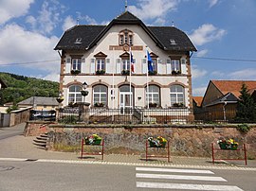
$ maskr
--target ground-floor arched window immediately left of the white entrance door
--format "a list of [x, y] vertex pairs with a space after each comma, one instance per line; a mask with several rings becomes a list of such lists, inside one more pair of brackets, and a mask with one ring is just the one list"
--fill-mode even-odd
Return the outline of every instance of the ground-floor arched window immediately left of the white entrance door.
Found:
[[93, 105], [102, 107], [107, 105], [107, 87], [96, 85], [93, 87]]

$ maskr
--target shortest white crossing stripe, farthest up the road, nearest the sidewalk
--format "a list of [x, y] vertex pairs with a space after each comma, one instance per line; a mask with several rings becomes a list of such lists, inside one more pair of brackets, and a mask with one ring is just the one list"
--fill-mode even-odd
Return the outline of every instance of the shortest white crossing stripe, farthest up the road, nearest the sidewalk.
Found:
[[214, 174], [210, 170], [194, 170], [194, 169], [176, 169], [176, 168], [155, 168], [155, 167], [136, 167], [137, 171], [151, 172], [180, 172], [180, 173], [195, 173], [195, 174]]

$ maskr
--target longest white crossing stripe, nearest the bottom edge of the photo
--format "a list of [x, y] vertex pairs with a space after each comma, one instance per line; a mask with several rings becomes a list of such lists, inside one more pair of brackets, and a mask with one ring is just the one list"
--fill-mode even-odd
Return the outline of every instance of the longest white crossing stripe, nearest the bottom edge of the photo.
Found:
[[163, 182], [136, 182], [139, 188], [166, 188], [183, 190], [211, 190], [211, 191], [243, 191], [233, 185], [210, 185], [210, 184], [188, 184], [188, 183], [163, 183]]

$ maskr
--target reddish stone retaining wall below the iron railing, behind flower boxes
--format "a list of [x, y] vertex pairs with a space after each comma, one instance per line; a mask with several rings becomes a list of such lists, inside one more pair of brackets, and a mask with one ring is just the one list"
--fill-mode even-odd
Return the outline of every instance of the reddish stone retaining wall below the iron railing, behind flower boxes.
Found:
[[241, 133], [236, 129], [237, 125], [72, 126], [45, 124], [42, 130], [42, 125], [29, 123], [26, 135], [48, 131], [47, 149], [50, 150], [64, 151], [67, 150], [65, 148], [68, 150], [74, 148], [73, 150], [79, 151], [82, 137], [98, 133], [104, 138], [107, 153], [144, 153], [146, 139], [149, 136], [161, 135], [170, 140], [172, 155], [210, 157], [210, 143], [216, 144], [219, 138], [224, 137], [234, 138], [240, 146], [246, 143], [248, 158], [253, 159], [256, 156], [256, 128], [253, 126], [247, 133]]

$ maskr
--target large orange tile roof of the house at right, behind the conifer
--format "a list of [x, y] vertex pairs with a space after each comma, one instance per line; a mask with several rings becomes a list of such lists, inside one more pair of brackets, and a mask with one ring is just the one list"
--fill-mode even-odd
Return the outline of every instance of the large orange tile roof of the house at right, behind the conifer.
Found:
[[242, 84], [247, 85], [247, 90], [253, 92], [256, 89], [256, 81], [250, 80], [211, 80], [211, 82], [222, 92], [223, 95], [232, 93], [234, 96], [240, 96]]

